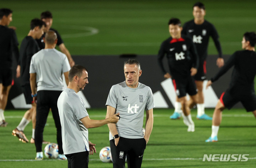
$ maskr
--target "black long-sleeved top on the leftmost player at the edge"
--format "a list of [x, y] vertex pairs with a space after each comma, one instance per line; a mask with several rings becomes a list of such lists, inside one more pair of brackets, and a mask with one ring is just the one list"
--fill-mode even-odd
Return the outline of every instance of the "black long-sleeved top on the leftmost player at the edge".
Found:
[[12, 68], [12, 53], [18, 61], [18, 40], [13, 29], [0, 25], [0, 69]]

